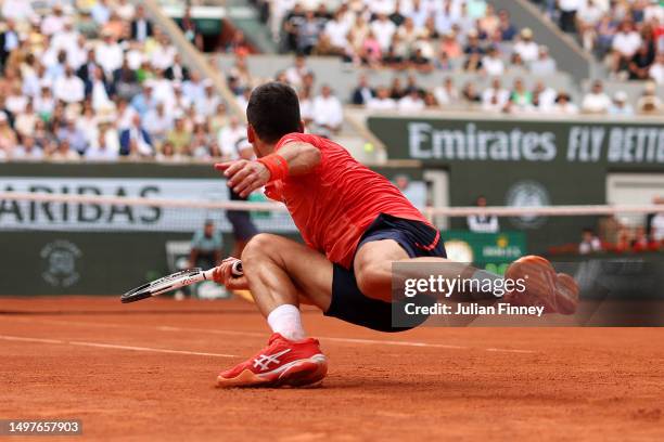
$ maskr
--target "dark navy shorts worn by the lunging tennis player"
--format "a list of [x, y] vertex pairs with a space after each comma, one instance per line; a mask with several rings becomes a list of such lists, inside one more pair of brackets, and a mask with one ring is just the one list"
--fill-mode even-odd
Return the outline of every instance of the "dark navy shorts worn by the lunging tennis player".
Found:
[[[366, 243], [382, 239], [394, 239], [410, 258], [447, 258], [440, 232], [421, 221], [381, 213], [369, 225], [357, 249]], [[350, 270], [347, 270], [334, 264], [332, 301], [324, 315], [379, 332], [404, 332], [413, 328], [397, 328], [392, 325], [392, 302], [366, 297], [357, 286], [353, 265]], [[421, 321], [413, 326], [424, 321], [426, 316], [422, 316]]]

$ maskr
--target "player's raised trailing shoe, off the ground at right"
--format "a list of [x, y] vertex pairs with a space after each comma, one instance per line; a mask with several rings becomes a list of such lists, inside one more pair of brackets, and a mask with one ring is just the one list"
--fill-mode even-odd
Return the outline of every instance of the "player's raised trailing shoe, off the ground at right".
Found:
[[565, 273], [556, 273], [553, 265], [534, 255], [512, 262], [506, 278], [525, 280], [525, 290], [513, 290], [505, 300], [516, 306], [542, 306], [545, 313], [573, 314], [578, 306], [578, 285]]

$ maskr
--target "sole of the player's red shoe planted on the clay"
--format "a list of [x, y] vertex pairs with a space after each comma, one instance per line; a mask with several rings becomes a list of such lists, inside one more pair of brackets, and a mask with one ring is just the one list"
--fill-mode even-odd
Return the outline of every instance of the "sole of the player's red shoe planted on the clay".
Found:
[[276, 388], [276, 387], [314, 387], [320, 385], [328, 374], [328, 361], [317, 354], [309, 359], [290, 362], [266, 374], [255, 374], [245, 369], [234, 378], [217, 377], [217, 388]]

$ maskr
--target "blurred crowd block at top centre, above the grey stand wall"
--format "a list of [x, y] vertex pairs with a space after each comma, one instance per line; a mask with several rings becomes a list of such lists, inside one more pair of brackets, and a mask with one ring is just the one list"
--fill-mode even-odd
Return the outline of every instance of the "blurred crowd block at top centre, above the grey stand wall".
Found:
[[267, 20], [286, 51], [336, 55], [355, 65], [423, 73], [460, 67], [488, 75], [519, 66], [556, 73], [556, 62], [532, 30], [520, 31], [507, 11], [496, 11], [486, 0], [355, 0], [334, 10], [325, 2], [274, 0]]

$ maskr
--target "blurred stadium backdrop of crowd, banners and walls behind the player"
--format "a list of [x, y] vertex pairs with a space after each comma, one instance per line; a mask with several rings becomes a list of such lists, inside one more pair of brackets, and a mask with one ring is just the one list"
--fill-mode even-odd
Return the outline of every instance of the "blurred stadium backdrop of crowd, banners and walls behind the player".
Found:
[[[247, 99], [274, 79], [456, 259], [663, 260], [664, 1], [0, 9], [0, 295], [117, 294], [256, 232], [295, 236], [282, 207], [238, 200], [210, 167], [251, 157]], [[225, 296], [196, 290], [181, 295]]]

